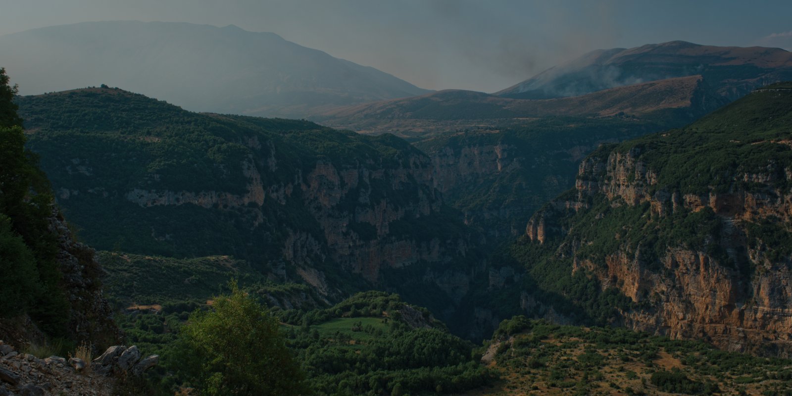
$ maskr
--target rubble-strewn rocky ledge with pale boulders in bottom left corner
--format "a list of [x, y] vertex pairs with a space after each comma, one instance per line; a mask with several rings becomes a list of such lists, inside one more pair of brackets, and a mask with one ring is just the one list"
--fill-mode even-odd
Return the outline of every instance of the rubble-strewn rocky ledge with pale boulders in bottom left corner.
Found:
[[39, 359], [0, 341], [0, 396], [109, 396], [113, 377], [143, 375], [159, 362], [157, 355], [141, 357], [135, 345], [114, 345], [90, 364], [75, 357]]

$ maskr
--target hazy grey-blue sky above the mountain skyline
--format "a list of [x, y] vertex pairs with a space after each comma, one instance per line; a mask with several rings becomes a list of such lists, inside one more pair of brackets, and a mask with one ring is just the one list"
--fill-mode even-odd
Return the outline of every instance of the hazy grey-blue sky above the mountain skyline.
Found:
[[0, 35], [112, 20], [275, 32], [422, 88], [485, 92], [597, 48], [686, 40], [792, 50], [792, 0], [0, 0]]

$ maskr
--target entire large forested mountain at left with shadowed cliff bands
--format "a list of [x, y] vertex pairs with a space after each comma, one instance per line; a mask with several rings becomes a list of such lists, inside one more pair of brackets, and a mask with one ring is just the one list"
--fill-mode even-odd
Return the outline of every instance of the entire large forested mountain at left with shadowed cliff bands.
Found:
[[393, 135], [186, 112], [120, 89], [19, 103], [59, 204], [98, 249], [229, 255], [324, 295], [377, 287], [432, 308], [453, 306], [481, 261], [431, 159]]

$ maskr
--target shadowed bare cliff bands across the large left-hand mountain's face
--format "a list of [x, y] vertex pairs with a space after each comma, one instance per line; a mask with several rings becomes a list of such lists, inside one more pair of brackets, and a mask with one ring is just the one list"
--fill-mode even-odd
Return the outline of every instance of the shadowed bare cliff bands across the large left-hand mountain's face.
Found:
[[[448, 219], [441, 218], [447, 216], [441, 212], [448, 208], [444, 209], [435, 188], [432, 162], [425, 154], [407, 148], [398, 161], [320, 157], [295, 164], [284, 155], [286, 149], [272, 140], [256, 136], [242, 143], [251, 154], [243, 158], [239, 169], [223, 169], [241, 173], [240, 179], [246, 181], [234, 191], [173, 190], [154, 173], [120, 192], [98, 186], [64, 188], [68, 193], [61, 193], [59, 202], [69, 206], [70, 200], [78, 197], [101, 196], [135, 204], [144, 212], [196, 207], [211, 211], [242, 223], [249, 243], [265, 241], [278, 246], [266, 259], [285, 261], [293, 278], [323, 295], [332, 295], [343, 286], [333, 281], [328, 268], [333, 268], [330, 272], [352, 273], [369, 287], [399, 287], [383, 278], [383, 268], [417, 263], [430, 264], [421, 279], [451, 299], [459, 301], [469, 288], [470, 273], [464, 265], [447, 267], [466, 260], [470, 235], [442, 230]], [[78, 158], [78, 162], [90, 160]], [[454, 221], [461, 223], [451, 223]], [[415, 228], [432, 227], [439, 231], [415, 232]], [[180, 238], [157, 223], [151, 226], [151, 236], [160, 242]], [[440, 267], [434, 268], [432, 263]]]

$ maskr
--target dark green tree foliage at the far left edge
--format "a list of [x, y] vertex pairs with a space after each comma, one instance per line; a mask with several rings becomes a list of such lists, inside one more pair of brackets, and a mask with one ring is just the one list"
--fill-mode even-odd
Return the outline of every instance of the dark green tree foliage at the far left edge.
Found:
[[63, 336], [67, 300], [59, 287], [55, 235], [49, 228], [52, 195], [37, 158], [25, 150], [17, 106], [0, 69], [0, 317], [30, 314], [50, 335]]

